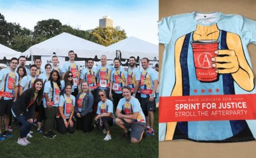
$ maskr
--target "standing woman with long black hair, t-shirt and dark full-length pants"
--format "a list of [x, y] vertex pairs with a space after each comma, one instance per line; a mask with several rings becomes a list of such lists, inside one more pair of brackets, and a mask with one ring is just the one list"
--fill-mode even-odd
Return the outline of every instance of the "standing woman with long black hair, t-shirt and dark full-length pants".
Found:
[[53, 139], [56, 135], [52, 132], [54, 126], [54, 118], [58, 112], [59, 95], [61, 93], [61, 76], [56, 70], [52, 70], [49, 81], [45, 83], [44, 87], [44, 109], [45, 109], [45, 123], [44, 123], [44, 138]]

